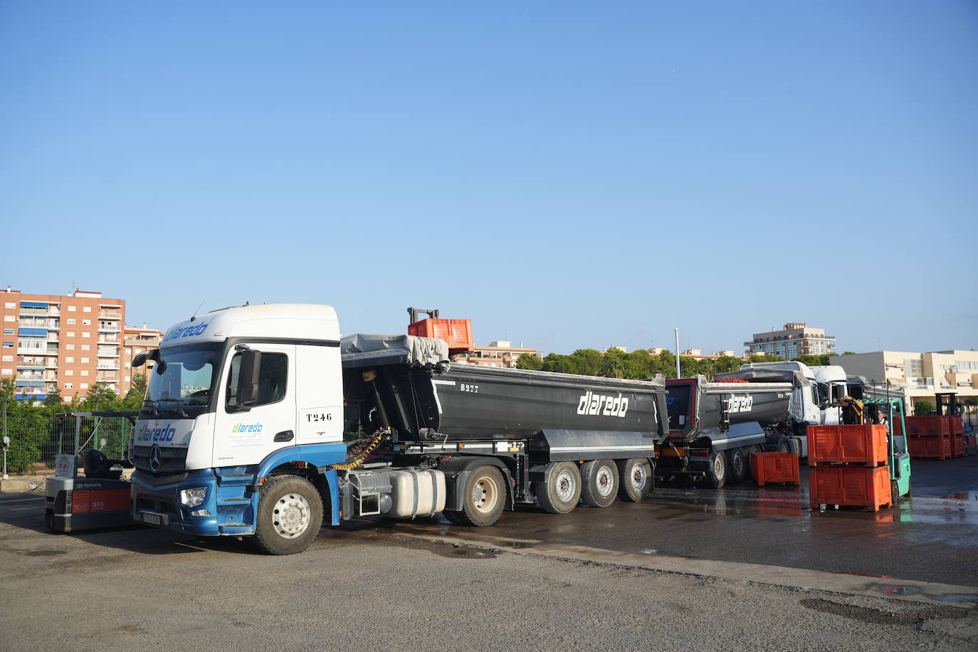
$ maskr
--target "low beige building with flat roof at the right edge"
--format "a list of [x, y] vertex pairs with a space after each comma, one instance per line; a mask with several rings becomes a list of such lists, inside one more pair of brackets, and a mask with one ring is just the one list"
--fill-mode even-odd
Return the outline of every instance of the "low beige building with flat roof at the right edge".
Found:
[[832, 356], [829, 364], [889, 388], [911, 411], [914, 401], [933, 403], [937, 393], [955, 392], [958, 400], [978, 396], [978, 351], [875, 351]]

